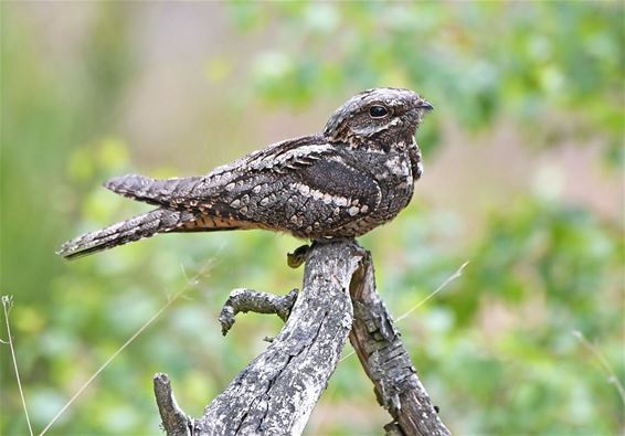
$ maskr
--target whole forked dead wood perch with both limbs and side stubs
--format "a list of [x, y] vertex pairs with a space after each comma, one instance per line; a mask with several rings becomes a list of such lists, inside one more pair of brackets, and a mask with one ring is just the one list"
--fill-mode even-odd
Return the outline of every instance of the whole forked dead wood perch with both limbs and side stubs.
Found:
[[380, 404], [393, 417], [386, 433], [448, 435], [375, 294], [370, 254], [354, 241], [332, 241], [314, 244], [305, 258], [299, 296], [244, 289], [229, 298], [220, 317], [224, 331], [239, 311], [288, 319], [271, 345], [208, 405], [202, 417], [188, 417], [176, 404], [167, 376], [155, 376], [167, 434], [300, 434], [349, 336]]

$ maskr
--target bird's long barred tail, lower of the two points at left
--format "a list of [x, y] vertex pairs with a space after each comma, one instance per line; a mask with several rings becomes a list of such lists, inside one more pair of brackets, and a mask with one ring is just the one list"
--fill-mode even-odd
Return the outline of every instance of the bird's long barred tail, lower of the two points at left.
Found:
[[192, 220], [194, 220], [194, 215], [191, 212], [156, 209], [68, 241], [61, 246], [56, 254], [67, 259], [74, 259], [144, 237], [150, 237], [157, 233], [171, 232]]

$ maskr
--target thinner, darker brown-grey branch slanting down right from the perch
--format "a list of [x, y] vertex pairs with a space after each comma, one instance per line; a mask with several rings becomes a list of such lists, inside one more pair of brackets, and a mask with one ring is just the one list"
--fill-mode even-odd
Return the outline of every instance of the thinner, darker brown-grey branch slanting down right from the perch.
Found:
[[349, 340], [375, 386], [378, 402], [393, 417], [393, 422], [384, 427], [386, 434], [449, 435], [375, 291], [369, 253], [351, 280], [350, 294], [354, 320]]

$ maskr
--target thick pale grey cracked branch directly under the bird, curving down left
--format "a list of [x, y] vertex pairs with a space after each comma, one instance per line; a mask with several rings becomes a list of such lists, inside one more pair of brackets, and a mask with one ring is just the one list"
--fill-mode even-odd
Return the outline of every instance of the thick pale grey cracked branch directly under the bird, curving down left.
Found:
[[[350, 241], [316, 244], [309, 251], [304, 288], [285, 327], [211, 402], [194, 422], [194, 435], [301, 433], [351, 329], [348, 289], [360, 256]], [[163, 416], [161, 411], [163, 421], [170, 413]], [[188, 425], [179, 423], [177, 432]]]

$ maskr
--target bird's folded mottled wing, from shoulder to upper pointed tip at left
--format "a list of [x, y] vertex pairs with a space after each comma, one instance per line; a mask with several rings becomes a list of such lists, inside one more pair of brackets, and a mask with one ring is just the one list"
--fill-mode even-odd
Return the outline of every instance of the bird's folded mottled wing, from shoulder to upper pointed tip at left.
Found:
[[375, 180], [345, 162], [336, 147], [322, 137], [304, 137], [255, 151], [204, 177], [126, 176], [105, 185], [135, 200], [195, 213], [199, 217], [181, 231], [214, 228], [216, 219], [230, 226], [236, 222], [237, 228], [318, 233], [366, 216], [381, 199]]

